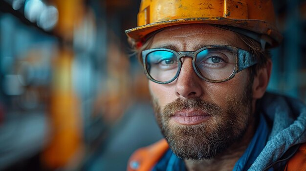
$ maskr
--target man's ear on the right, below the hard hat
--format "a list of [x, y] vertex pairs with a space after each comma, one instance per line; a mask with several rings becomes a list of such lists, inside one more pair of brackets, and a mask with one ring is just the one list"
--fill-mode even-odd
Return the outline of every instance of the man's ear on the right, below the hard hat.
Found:
[[253, 99], [262, 98], [271, 76], [272, 62], [268, 59], [266, 65], [257, 71], [253, 81]]

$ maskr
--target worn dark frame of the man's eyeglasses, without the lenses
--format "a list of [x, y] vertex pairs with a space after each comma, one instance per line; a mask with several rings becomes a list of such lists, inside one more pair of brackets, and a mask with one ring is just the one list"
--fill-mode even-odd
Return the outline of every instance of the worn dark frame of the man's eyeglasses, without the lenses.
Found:
[[[197, 70], [197, 66], [196, 66], [196, 59], [197, 59], [197, 54], [198, 53], [202, 52], [203, 50], [210, 49], [210, 48], [216, 48], [216, 47], [226, 47], [229, 50], [232, 50], [232, 52], [237, 52], [236, 54], [234, 54], [235, 55], [235, 58], [234, 58], [235, 59], [235, 69], [234, 69], [233, 73], [230, 76], [228, 76], [227, 78], [224, 78], [224, 79], [221, 79], [221, 80], [211, 80], [211, 79], [205, 78]], [[172, 52], [173, 54], [175, 54], [175, 56], [177, 58], [176, 74], [169, 81], [164, 81], [164, 82], [163, 81], [157, 81], [148, 72], [148, 68], [147, 68], [147, 65], [146, 65], [147, 55], [154, 52], [154, 51], [159, 51], [159, 50]], [[142, 55], [142, 61], [143, 61], [143, 67], [144, 67], [145, 75], [151, 81], [153, 81], [155, 83], [158, 83], [158, 84], [169, 84], [169, 83], [173, 82], [178, 77], [178, 75], [180, 73], [180, 70], [182, 68], [182, 63], [183, 62], [180, 60], [182, 57], [192, 57], [192, 66], [193, 66], [194, 71], [196, 72], [197, 76], [199, 76], [201, 79], [203, 79], [207, 82], [212, 82], [212, 83], [219, 83], [219, 82], [228, 81], [228, 80], [232, 79], [238, 72], [258, 63], [256, 58], [252, 57], [250, 52], [248, 52], [244, 49], [241, 49], [241, 48], [238, 48], [238, 47], [235, 47], [235, 46], [229, 46], [229, 45], [209, 45], [209, 46], [204, 46], [204, 47], [198, 49], [197, 51], [181, 51], [181, 52], [176, 52], [175, 50], [167, 49], [167, 48], [153, 48], [153, 49], [143, 50], [141, 52], [141, 55]]]

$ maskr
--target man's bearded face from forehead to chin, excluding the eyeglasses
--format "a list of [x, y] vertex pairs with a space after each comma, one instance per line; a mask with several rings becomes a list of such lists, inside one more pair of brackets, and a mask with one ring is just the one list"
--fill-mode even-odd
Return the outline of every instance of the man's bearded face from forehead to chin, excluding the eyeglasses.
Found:
[[[150, 48], [196, 51], [207, 45], [246, 49], [234, 32], [210, 25], [182, 25], [157, 33]], [[184, 159], [207, 159], [238, 141], [251, 118], [252, 82], [247, 70], [221, 83], [197, 76], [192, 58], [169, 84], [149, 82], [157, 122], [173, 152]]]

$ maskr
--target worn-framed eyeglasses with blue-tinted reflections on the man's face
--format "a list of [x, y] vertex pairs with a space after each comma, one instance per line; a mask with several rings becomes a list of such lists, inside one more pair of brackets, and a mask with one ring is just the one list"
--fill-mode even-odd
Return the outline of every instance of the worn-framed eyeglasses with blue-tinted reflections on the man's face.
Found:
[[179, 75], [182, 57], [192, 57], [197, 76], [213, 83], [227, 81], [257, 63], [250, 52], [227, 45], [211, 45], [183, 52], [156, 48], [142, 51], [145, 74], [153, 82], [168, 84]]

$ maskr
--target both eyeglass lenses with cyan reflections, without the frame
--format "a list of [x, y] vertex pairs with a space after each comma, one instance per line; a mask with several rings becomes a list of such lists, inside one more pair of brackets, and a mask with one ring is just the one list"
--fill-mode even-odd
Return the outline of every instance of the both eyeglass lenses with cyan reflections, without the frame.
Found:
[[[167, 50], [156, 50], [146, 57], [149, 75], [156, 81], [173, 79], [178, 71], [178, 57]], [[209, 48], [197, 53], [195, 60], [199, 74], [209, 80], [222, 80], [235, 70], [235, 54], [224, 48]]]

